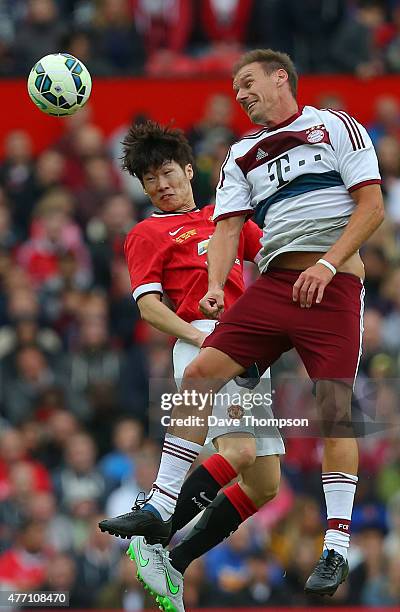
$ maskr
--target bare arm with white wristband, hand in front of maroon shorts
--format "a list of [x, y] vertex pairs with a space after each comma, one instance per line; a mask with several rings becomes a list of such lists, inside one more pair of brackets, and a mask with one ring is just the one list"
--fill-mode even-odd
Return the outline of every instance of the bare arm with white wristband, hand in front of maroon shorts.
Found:
[[[351, 195], [357, 207], [339, 240], [323, 256], [324, 260], [339, 271], [343, 270], [346, 262], [357, 253], [384, 219], [382, 192], [379, 185], [360, 187]], [[310, 266], [300, 274], [293, 285], [293, 300], [299, 301], [302, 308], [310, 308], [316, 296], [315, 302], [319, 304], [325, 287], [333, 276], [333, 271], [324, 264], [316, 263]]]

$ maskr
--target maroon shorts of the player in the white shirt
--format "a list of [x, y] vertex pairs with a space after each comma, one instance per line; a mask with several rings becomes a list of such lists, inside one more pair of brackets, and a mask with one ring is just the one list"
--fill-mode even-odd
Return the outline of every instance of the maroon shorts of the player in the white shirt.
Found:
[[300, 271], [272, 268], [221, 317], [203, 347], [226, 353], [245, 368], [269, 367], [295, 348], [313, 380], [354, 381], [361, 356], [364, 287], [338, 272], [320, 304], [293, 302]]

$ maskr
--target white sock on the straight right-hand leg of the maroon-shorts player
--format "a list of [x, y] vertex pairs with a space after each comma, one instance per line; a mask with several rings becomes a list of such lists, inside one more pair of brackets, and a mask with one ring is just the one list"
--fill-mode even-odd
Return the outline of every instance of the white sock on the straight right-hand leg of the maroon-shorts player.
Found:
[[358, 478], [344, 472], [323, 472], [322, 485], [328, 516], [324, 549], [340, 553], [347, 559], [350, 545], [351, 513]]

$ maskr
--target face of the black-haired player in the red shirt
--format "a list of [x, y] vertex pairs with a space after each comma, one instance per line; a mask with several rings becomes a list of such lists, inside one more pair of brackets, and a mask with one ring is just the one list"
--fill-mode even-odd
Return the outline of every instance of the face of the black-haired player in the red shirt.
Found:
[[164, 212], [190, 210], [194, 207], [192, 186], [193, 168], [184, 168], [176, 161], [165, 161], [159, 168], [151, 168], [143, 175], [144, 189], [154, 206]]

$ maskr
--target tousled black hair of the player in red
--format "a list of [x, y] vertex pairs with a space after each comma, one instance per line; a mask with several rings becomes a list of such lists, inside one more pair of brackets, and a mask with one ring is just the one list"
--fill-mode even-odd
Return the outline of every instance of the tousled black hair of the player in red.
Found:
[[146, 172], [166, 161], [175, 161], [182, 169], [194, 164], [192, 149], [182, 130], [155, 121], [134, 123], [122, 144], [122, 168], [142, 183]]

